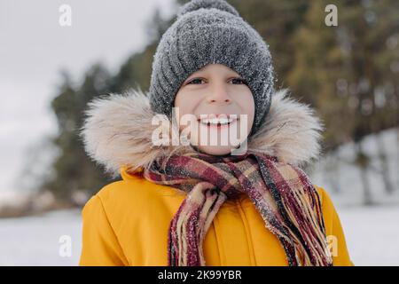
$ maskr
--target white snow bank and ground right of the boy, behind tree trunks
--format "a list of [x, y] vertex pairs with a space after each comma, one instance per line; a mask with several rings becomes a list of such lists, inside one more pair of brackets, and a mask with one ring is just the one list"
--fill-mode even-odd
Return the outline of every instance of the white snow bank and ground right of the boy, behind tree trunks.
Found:
[[364, 138], [364, 152], [372, 159], [367, 177], [374, 206], [364, 207], [364, 188], [355, 158], [355, 145], [339, 147], [321, 159], [310, 173], [314, 184], [325, 188], [340, 215], [349, 255], [356, 265], [399, 265], [399, 129], [381, 131], [394, 192], [384, 190], [376, 134]]

